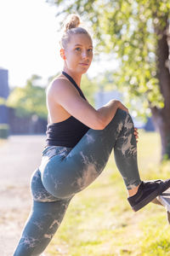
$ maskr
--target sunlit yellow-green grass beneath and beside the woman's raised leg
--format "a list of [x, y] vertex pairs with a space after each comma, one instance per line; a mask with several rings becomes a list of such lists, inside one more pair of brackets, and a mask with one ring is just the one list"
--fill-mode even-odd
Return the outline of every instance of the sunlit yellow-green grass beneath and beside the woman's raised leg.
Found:
[[[139, 132], [142, 179], [169, 177], [170, 162], [160, 166], [156, 133]], [[163, 207], [150, 203], [133, 212], [113, 155], [97, 180], [71, 201], [65, 219], [48, 246], [47, 255], [167, 256], [170, 227]]]

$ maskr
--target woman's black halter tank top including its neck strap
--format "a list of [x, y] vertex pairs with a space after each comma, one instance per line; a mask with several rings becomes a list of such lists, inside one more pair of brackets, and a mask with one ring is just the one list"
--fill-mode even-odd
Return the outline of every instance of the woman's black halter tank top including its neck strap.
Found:
[[[80, 96], [86, 100], [82, 90], [68, 73], [62, 72], [67, 79], [77, 88]], [[71, 116], [70, 118], [47, 126], [46, 146], [63, 146], [67, 148], [74, 148], [80, 141], [83, 135], [88, 131], [89, 127], [82, 124], [78, 119]]]

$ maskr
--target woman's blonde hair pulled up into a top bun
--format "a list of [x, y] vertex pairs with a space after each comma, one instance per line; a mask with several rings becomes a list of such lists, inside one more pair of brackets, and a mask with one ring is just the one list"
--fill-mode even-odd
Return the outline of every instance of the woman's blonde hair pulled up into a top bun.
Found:
[[88, 31], [80, 26], [81, 20], [79, 15], [68, 15], [63, 26], [63, 33], [60, 38], [59, 44], [62, 48], [66, 48], [69, 43], [71, 36], [76, 34], [87, 34], [90, 37]]

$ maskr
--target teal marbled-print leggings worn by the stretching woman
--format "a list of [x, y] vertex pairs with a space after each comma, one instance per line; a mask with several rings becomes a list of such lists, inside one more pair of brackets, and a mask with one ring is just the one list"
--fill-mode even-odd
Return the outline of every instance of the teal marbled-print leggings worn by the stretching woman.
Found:
[[48, 246], [71, 198], [104, 170], [112, 149], [127, 189], [141, 183], [133, 120], [121, 109], [104, 130], [89, 129], [74, 148], [50, 146], [31, 177], [33, 204], [14, 256], [37, 256]]

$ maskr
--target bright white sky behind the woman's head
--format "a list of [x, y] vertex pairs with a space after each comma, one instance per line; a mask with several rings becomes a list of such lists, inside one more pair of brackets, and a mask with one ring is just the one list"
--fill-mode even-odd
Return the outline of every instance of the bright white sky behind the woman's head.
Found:
[[[0, 67], [8, 69], [9, 86], [26, 85], [32, 74], [43, 84], [61, 71], [59, 20], [56, 6], [45, 0], [0, 0]], [[88, 74], [103, 71], [105, 64], [94, 63]]]

